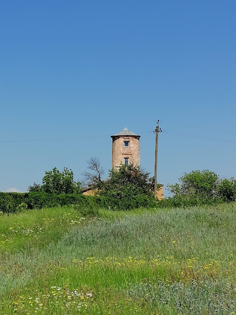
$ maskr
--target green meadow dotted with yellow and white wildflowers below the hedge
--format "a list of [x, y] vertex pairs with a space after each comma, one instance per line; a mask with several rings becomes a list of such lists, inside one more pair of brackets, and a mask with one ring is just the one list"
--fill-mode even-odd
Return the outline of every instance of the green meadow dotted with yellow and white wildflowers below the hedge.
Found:
[[0, 315], [236, 314], [236, 204], [0, 216]]

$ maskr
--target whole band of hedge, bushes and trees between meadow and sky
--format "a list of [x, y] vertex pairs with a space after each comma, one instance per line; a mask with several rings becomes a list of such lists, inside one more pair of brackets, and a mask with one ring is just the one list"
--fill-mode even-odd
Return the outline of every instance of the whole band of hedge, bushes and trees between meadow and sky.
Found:
[[[26, 209], [41, 209], [71, 204], [85, 207], [105, 207], [111, 210], [131, 210], [139, 207], [171, 208], [194, 205], [213, 205], [236, 200], [236, 180], [220, 179], [214, 172], [192, 171], [184, 173], [180, 184], [169, 185], [173, 196], [162, 201], [154, 199], [153, 178], [135, 165], [120, 165], [109, 171], [108, 180], [102, 180], [104, 170], [96, 158], [89, 161], [89, 171], [84, 172], [96, 196], [83, 196], [81, 183], [73, 180], [73, 172], [64, 168], [47, 171], [43, 184], [29, 186], [27, 193], [0, 192], [0, 211], [4, 213]], [[73, 193], [69, 193], [73, 192]]]

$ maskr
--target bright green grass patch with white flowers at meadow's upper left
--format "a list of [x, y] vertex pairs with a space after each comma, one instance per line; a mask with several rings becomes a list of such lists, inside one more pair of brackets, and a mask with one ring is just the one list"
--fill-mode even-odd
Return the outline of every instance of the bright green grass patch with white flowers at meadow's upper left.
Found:
[[83, 225], [86, 211], [64, 206], [1, 215], [0, 253], [31, 251], [54, 243], [75, 226]]

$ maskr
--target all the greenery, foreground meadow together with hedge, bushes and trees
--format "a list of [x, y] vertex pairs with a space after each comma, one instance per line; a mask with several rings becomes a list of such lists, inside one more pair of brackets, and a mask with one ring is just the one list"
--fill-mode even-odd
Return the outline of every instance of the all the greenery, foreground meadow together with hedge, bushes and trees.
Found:
[[138, 166], [84, 175], [95, 196], [56, 167], [0, 192], [0, 314], [236, 315], [234, 178], [184, 173], [157, 201]]

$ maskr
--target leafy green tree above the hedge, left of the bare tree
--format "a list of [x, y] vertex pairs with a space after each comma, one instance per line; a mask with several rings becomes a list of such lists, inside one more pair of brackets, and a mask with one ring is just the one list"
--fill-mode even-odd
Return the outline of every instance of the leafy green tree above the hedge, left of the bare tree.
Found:
[[46, 171], [42, 182], [42, 185], [34, 183], [29, 186], [29, 192], [81, 193], [81, 183], [74, 181], [74, 174], [67, 167], [64, 167], [62, 172], [56, 167], [52, 171]]

